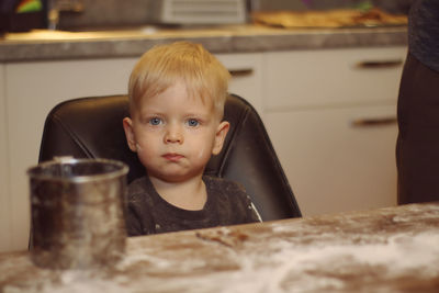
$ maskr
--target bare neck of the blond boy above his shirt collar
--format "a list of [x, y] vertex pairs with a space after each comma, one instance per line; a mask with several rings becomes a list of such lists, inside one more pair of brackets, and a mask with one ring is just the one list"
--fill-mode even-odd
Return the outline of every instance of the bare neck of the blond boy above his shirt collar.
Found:
[[207, 201], [207, 191], [202, 176], [183, 182], [167, 182], [155, 177], [149, 177], [149, 180], [160, 198], [177, 207], [199, 211]]

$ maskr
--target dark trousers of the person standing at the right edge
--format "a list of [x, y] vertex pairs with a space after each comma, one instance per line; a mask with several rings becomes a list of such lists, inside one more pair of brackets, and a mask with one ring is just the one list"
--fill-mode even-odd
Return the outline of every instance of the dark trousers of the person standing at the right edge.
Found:
[[439, 201], [439, 72], [408, 54], [397, 104], [398, 204]]

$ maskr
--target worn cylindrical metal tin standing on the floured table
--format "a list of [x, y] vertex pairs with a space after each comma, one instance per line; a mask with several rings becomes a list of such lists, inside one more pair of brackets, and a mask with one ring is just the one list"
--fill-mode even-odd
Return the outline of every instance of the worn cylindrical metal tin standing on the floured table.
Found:
[[115, 264], [125, 251], [127, 172], [120, 161], [70, 157], [30, 168], [32, 261], [52, 269]]

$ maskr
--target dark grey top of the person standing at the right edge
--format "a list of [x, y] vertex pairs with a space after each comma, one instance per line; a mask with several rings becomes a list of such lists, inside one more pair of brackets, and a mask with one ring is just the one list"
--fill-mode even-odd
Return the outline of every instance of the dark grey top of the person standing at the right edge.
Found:
[[439, 0], [416, 0], [408, 16], [408, 48], [424, 65], [439, 72]]

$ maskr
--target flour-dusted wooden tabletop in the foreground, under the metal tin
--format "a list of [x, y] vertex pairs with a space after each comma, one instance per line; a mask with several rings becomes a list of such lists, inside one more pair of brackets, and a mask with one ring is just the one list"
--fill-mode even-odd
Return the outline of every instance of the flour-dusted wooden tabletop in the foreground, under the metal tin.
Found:
[[0, 255], [0, 292], [438, 292], [439, 203], [128, 238], [116, 267]]

